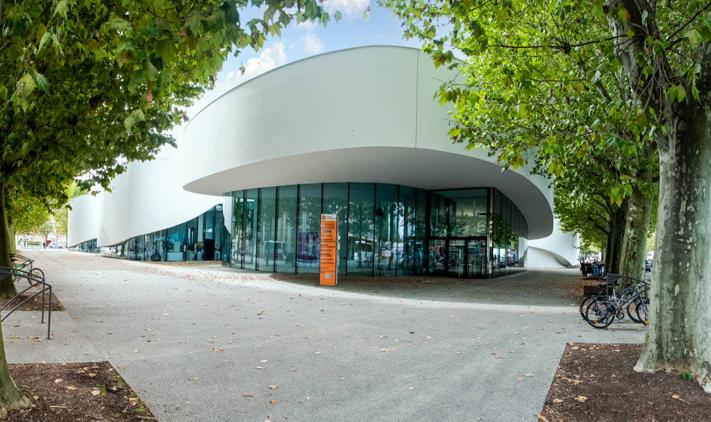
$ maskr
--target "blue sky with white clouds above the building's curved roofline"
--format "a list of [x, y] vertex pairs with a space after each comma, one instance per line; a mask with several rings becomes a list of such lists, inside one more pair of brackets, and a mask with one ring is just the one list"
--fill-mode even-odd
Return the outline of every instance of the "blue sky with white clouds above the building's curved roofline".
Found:
[[[331, 13], [328, 26], [314, 23], [289, 25], [282, 31], [282, 37], [269, 38], [257, 52], [251, 47], [244, 48], [240, 55], [230, 58], [218, 73], [215, 87], [206, 92], [192, 107], [187, 110], [189, 117], [196, 116], [201, 109], [210, 104], [220, 95], [240, 85], [253, 77], [275, 67], [292, 63], [296, 60], [343, 48], [360, 47], [363, 45], [405, 45], [419, 48], [418, 40], [402, 38], [401, 22], [389, 9], [384, 9], [375, 0], [326, 0], [319, 3]], [[370, 7], [367, 17], [363, 12]], [[333, 11], [341, 11], [343, 18], [336, 23]], [[247, 13], [261, 13], [252, 10]], [[245, 13], [242, 21], [246, 21]], [[245, 74], [240, 72], [245, 67]], [[173, 129], [172, 134], [178, 143], [183, 133], [182, 126]], [[173, 149], [173, 148], [170, 148]], [[161, 156], [169, 158], [173, 151], [161, 151]]]

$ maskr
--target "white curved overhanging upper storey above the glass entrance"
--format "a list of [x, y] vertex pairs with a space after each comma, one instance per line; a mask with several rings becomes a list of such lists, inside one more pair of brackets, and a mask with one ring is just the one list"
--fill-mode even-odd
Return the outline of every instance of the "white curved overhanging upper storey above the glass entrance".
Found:
[[529, 239], [546, 237], [553, 214], [545, 178], [529, 168], [502, 172], [486, 151], [451, 143], [449, 109], [432, 97], [453, 77], [419, 50], [383, 46], [274, 69], [193, 117], [180, 142], [192, 180], [184, 188], [222, 195], [294, 183], [493, 186], [523, 213]]

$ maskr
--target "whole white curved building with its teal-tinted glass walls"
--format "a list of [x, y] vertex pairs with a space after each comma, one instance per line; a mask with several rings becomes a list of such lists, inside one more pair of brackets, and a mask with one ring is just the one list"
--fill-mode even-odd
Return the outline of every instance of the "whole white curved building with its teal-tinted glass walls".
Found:
[[[432, 97], [453, 77], [386, 46], [255, 77], [193, 117], [176, 159], [135, 164], [100, 195], [98, 243], [127, 242], [133, 259], [205, 259], [210, 226], [230, 266], [315, 272], [318, 216], [337, 212], [344, 275], [519, 271], [528, 239], [552, 232], [552, 190], [529, 168], [502, 171], [487, 151], [452, 144], [449, 109]], [[225, 198], [220, 227], [195, 218], [215, 204], [208, 195]]]

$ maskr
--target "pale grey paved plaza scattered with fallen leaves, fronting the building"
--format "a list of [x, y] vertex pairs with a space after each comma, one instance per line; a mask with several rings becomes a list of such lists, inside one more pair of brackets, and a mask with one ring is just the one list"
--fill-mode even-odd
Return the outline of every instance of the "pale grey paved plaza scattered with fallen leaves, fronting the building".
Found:
[[29, 338], [46, 336], [38, 313], [11, 315], [8, 361], [108, 360], [160, 421], [534, 421], [566, 342], [643, 341], [629, 321], [584, 324], [574, 269], [320, 287], [214, 264], [22, 253], [66, 311], [43, 342]]

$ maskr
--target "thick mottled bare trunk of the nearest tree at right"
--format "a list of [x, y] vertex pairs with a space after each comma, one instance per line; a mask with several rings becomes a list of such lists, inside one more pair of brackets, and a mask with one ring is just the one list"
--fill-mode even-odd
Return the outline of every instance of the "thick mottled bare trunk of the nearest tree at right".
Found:
[[711, 393], [711, 110], [693, 103], [670, 114], [659, 140], [650, 321], [635, 370], [690, 372]]

